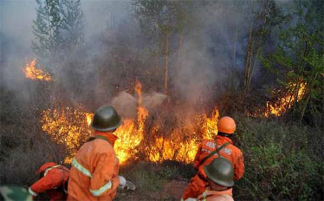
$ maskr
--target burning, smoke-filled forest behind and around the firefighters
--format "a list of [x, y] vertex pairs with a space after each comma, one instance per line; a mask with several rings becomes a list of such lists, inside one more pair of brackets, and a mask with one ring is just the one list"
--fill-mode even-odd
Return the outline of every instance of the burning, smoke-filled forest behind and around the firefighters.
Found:
[[245, 160], [235, 200], [324, 199], [323, 1], [27, 2], [0, 2], [1, 185], [69, 166], [111, 105], [137, 186], [116, 200], [179, 200], [224, 116]]

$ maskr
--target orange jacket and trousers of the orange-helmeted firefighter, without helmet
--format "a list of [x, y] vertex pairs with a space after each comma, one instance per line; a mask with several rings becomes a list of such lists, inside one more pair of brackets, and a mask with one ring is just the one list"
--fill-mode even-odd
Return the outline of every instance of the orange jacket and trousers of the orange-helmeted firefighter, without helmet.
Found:
[[209, 157], [199, 167], [198, 164], [204, 157], [209, 155], [210, 152], [215, 150], [216, 145], [217, 147], [220, 147], [224, 143], [230, 143], [228, 146], [226, 146], [220, 151], [220, 155], [228, 159], [232, 163], [234, 167], [234, 179], [238, 180], [242, 178], [245, 169], [242, 151], [233, 145], [233, 142], [230, 138], [224, 136], [216, 136], [216, 141], [217, 143], [215, 143], [214, 140], [203, 140], [202, 143], [199, 145], [198, 151], [193, 161], [193, 166], [197, 170], [197, 174], [191, 178], [190, 183], [188, 184], [186, 190], [182, 195], [183, 199], [186, 199], [188, 197], [197, 197], [205, 191], [206, 186], [208, 186], [208, 183], [206, 181], [207, 176], [203, 167], [209, 164], [213, 159], [217, 158], [218, 155], [215, 154]]

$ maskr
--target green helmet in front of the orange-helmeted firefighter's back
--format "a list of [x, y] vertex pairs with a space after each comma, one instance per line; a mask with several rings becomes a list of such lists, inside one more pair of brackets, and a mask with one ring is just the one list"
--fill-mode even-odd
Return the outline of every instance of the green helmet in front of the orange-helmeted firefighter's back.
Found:
[[223, 157], [215, 158], [209, 165], [204, 166], [207, 177], [213, 182], [232, 187], [234, 185], [234, 170], [230, 161]]

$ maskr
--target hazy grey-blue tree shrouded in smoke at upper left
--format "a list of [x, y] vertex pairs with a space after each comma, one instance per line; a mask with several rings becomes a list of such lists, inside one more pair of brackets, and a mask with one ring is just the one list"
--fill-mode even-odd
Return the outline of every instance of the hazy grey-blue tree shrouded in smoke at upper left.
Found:
[[32, 49], [41, 62], [62, 60], [83, 42], [83, 12], [80, 0], [36, 0], [38, 5]]

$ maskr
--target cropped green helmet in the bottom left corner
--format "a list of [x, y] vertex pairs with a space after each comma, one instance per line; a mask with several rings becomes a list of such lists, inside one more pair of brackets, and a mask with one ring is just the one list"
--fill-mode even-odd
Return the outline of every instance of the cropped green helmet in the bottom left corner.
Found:
[[3, 185], [0, 188], [1, 200], [12, 201], [31, 201], [33, 196], [28, 192], [26, 188], [15, 185]]

